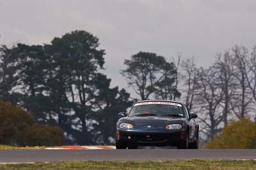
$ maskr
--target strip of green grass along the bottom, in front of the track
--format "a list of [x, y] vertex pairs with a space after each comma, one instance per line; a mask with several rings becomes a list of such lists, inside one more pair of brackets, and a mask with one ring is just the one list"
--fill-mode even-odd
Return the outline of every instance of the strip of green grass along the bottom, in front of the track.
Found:
[[0, 169], [256, 169], [255, 160], [65, 161], [0, 164]]

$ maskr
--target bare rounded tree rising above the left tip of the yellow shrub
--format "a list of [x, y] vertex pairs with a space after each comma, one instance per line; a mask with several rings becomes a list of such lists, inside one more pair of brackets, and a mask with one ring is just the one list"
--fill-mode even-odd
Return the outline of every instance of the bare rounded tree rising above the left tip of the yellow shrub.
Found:
[[212, 67], [209, 69], [201, 68], [198, 72], [199, 90], [196, 94], [196, 108], [200, 113], [201, 126], [200, 132], [206, 136], [205, 141], [212, 139], [214, 134], [220, 132], [220, 125], [223, 115], [220, 112], [220, 103], [223, 100], [223, 90], [218, 87], [219, 73], [214, 71]]

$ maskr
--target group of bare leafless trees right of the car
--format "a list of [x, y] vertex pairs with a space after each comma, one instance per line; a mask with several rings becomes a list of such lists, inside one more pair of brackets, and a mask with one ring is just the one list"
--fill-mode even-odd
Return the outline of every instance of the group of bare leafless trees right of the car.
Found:
[[203, 141], [213, 139], [233, 120], [256, 116], [255, 46], [233, 46], [206, 68], [197, 67], [193, 58], [180, 66], [183, 99], [199, 115]]

